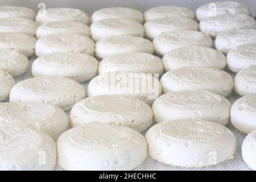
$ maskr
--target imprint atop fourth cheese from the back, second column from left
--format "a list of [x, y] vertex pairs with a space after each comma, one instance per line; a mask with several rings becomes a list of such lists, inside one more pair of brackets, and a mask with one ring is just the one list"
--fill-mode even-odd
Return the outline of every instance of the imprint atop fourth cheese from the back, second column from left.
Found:
[[90, 66], [89, 57], [84, 54], [71, 53], [71, 52], [56, 52], [49, 55], [44, 55], [42, 59], [45, 63], [56, 64], [56, 65], [79, 65], [86, 64]]

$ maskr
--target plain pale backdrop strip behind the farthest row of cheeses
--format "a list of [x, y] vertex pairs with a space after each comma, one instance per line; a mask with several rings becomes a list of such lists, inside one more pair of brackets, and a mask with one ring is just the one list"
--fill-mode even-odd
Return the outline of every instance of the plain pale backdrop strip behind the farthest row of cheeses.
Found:
[[[251, 15], [256, 16], [256, 0], [237, 1], [245, 3], [249, 7]], [[35, 11], [38, 11], [38, 4], [45, 3], [47, 8], [74, 7], [84, 10], [86, 13], [91, 15], [98, 9], [110, 6], [132, 7], [140, 11], [145, 11], [154, 6], [176, 5], [186, 6], [195, 11], [197, 7], [210, 2], [214, 2], [214, 0], [0, 0], [0, 5], [26, 6], [34, 9]]]

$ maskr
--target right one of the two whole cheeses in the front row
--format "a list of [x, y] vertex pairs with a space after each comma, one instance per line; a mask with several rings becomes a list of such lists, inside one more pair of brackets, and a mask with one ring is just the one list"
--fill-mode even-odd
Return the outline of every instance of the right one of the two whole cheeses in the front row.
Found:
[[179, 167], [207, 167], [232, 159], [236, 137], [226, 127], [203, 119], [160, 122], [146, 133], [148, 154]]

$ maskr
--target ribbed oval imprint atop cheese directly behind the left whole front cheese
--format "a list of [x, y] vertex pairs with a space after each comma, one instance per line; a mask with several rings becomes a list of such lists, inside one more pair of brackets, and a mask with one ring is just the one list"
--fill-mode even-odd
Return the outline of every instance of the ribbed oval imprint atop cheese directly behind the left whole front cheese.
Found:
[[141, 107], [135, 98], [122, 95], [94, 96], [84, 100], [83, 105], [99, 113], [130, 113]]

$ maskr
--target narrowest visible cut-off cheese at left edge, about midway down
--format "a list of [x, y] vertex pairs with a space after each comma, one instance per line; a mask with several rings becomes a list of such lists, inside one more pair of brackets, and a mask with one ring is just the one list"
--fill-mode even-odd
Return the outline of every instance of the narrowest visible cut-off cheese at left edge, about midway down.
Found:
[[14, 84], [14, 78], [0, 70], [0, 102], [7, 100]]

